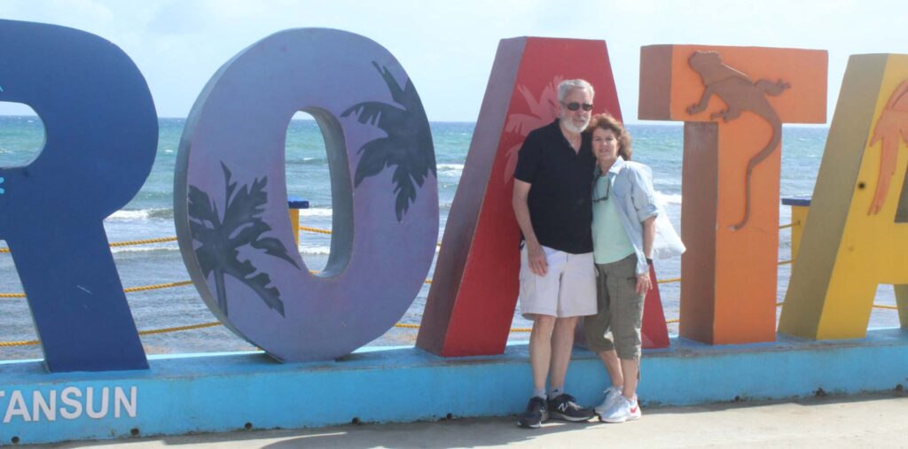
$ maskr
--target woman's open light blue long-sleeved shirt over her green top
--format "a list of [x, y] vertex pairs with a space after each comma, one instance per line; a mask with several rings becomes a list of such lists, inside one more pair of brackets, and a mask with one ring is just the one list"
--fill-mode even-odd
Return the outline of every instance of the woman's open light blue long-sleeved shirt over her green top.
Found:
[[[596, 172], [599, 173], [598, 166]], [[637, 253], [637, 274], [648, 273], [649, 267], [646, 266], [646, 256], [643, 254], [643, 221], [656, 217], [659, 213], [656, 190], [653, 189], [653, 173], [646, 165], [625, 161], [621, 156], [618, 156], [608, 172], [615, 176], [610, 194], [615, 195], [618, 216]]]

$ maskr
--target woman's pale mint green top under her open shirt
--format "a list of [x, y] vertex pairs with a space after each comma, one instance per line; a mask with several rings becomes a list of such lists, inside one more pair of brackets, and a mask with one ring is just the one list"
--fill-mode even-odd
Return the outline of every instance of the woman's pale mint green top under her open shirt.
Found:
[[593, 188], [593, 258], [597, 264], [617, 262], [634, 254], [634, 244], [618, 217], [612, 184], [615, 173], [599, 176]]

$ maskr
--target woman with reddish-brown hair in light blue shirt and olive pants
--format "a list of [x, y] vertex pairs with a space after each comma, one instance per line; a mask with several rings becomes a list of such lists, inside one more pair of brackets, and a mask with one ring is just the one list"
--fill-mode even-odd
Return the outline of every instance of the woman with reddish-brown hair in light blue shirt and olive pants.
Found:
[[[598, 314], [586, 317], [587, 346], [608, 370], [612, 386], [596, 413], [607, 423], [640, 417], [637, 381], [643, 299], [652, 287], [649, 264], [656, 238], [655, 190], [649, 167], [632, 162], [630, 136], [608, 114], [591, 120], [597, 159], [593, 182], [593, 254]], [[612, 338], [606, 337], [611, 331]]]

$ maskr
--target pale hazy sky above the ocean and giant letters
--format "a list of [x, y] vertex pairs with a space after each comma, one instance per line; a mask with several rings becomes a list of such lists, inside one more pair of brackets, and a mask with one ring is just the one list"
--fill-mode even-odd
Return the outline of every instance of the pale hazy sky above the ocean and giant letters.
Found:
[[[0, 0], [0, 18], [70, 26], [120, 46], [145, 76], [160, 117], [185, 117], [223, 63], [289, 28], [337, 28], [383, 45], [410, 75], [431, 122], [476, 121], [501, 39], [599, 39], [607, 43], [623, 115], [635, 123], [640, 47], [650, 44], [827, 50], [831, 120], [849, 55], [908, 54], [904, 5], [883, 0]], [[0, 114], [30, 112], [0, 102]]]

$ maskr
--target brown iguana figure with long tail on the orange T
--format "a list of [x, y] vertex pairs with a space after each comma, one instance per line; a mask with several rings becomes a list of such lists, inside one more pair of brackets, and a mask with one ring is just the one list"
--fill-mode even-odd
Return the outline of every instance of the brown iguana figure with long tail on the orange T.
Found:
[[750, 111], [759, 115], [773, 128], [773, 135], [770, 137], [769, 143], [747, 162], [744, 218], [735, 226], [732, 226], [734, 230], [741, 229], [744, 228], [747, 220], [750, 219], [751, 173], [757, 164], [772, 154], [775, 148], [779, 146], [779, 142], [782, 141], [782, 120], [775, 113], [775, 109], [766, 101], [766, 96], [779, 95], [785, 89], [790, 88], [791, 84], [782, 80], [773, 83], [763, 79], [754, 83], [745, 73], [725, 65], [722, 62], [722, 57], [716, 52], [695, 52], [687, 62], [700, 75], [700, 78], [703, 79], [703, 84], [706, 86], [703, 95], [700, 97], [700, 102], [687, 107], [688, 114], [693, 115], [706, 110], [709, 99], [716, 94], [725, 102], [727, 107], [723, 111], [710, 114], [710, 120], [721, 118], [723, 122], [729, 122], [741, 116], [741, 112]]

